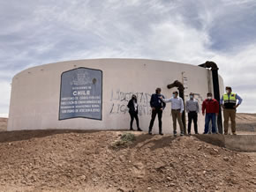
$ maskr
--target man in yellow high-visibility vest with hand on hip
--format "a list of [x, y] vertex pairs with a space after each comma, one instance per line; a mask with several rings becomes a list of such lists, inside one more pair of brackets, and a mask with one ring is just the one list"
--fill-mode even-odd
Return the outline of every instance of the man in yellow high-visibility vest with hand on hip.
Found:
[[[238, 100], [238, 103], [237, 103]], [[222, 95], [221, 105], [223, 107], [224, 114], [224, 134], [228, 135], [229, 130], [229, 119], [231, 119], [231, 130], [233, 135], [236, 134], [236, 113], [237, 107], [242, 103], [242, 98], [240, 98], [237, 93], [232, 92], [230, 86], [226, 87], [226, 93]]]

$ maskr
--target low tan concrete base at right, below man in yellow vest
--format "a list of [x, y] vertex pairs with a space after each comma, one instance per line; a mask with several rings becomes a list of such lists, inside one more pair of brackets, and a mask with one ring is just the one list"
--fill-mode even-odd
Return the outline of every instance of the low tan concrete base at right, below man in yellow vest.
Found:
[[256, 152], [256, 135], [196, 135], [200, 140], [233, 151]]

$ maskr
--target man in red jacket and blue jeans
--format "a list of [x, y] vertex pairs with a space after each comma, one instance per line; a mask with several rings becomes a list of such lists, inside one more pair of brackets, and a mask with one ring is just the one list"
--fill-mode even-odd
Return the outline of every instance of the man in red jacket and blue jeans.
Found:
[[219, 102], [213, 99], [213, 94], [211, 92], [207, 93], [207, 100], [204, 100], [202, 106], [202, 114], [205, 115], [206, 112], [206, 122], [204, 134], [209, 131], [209, 122], [212, 121], [212, 133], [216, 133], [216, 116], [219, 113]]

